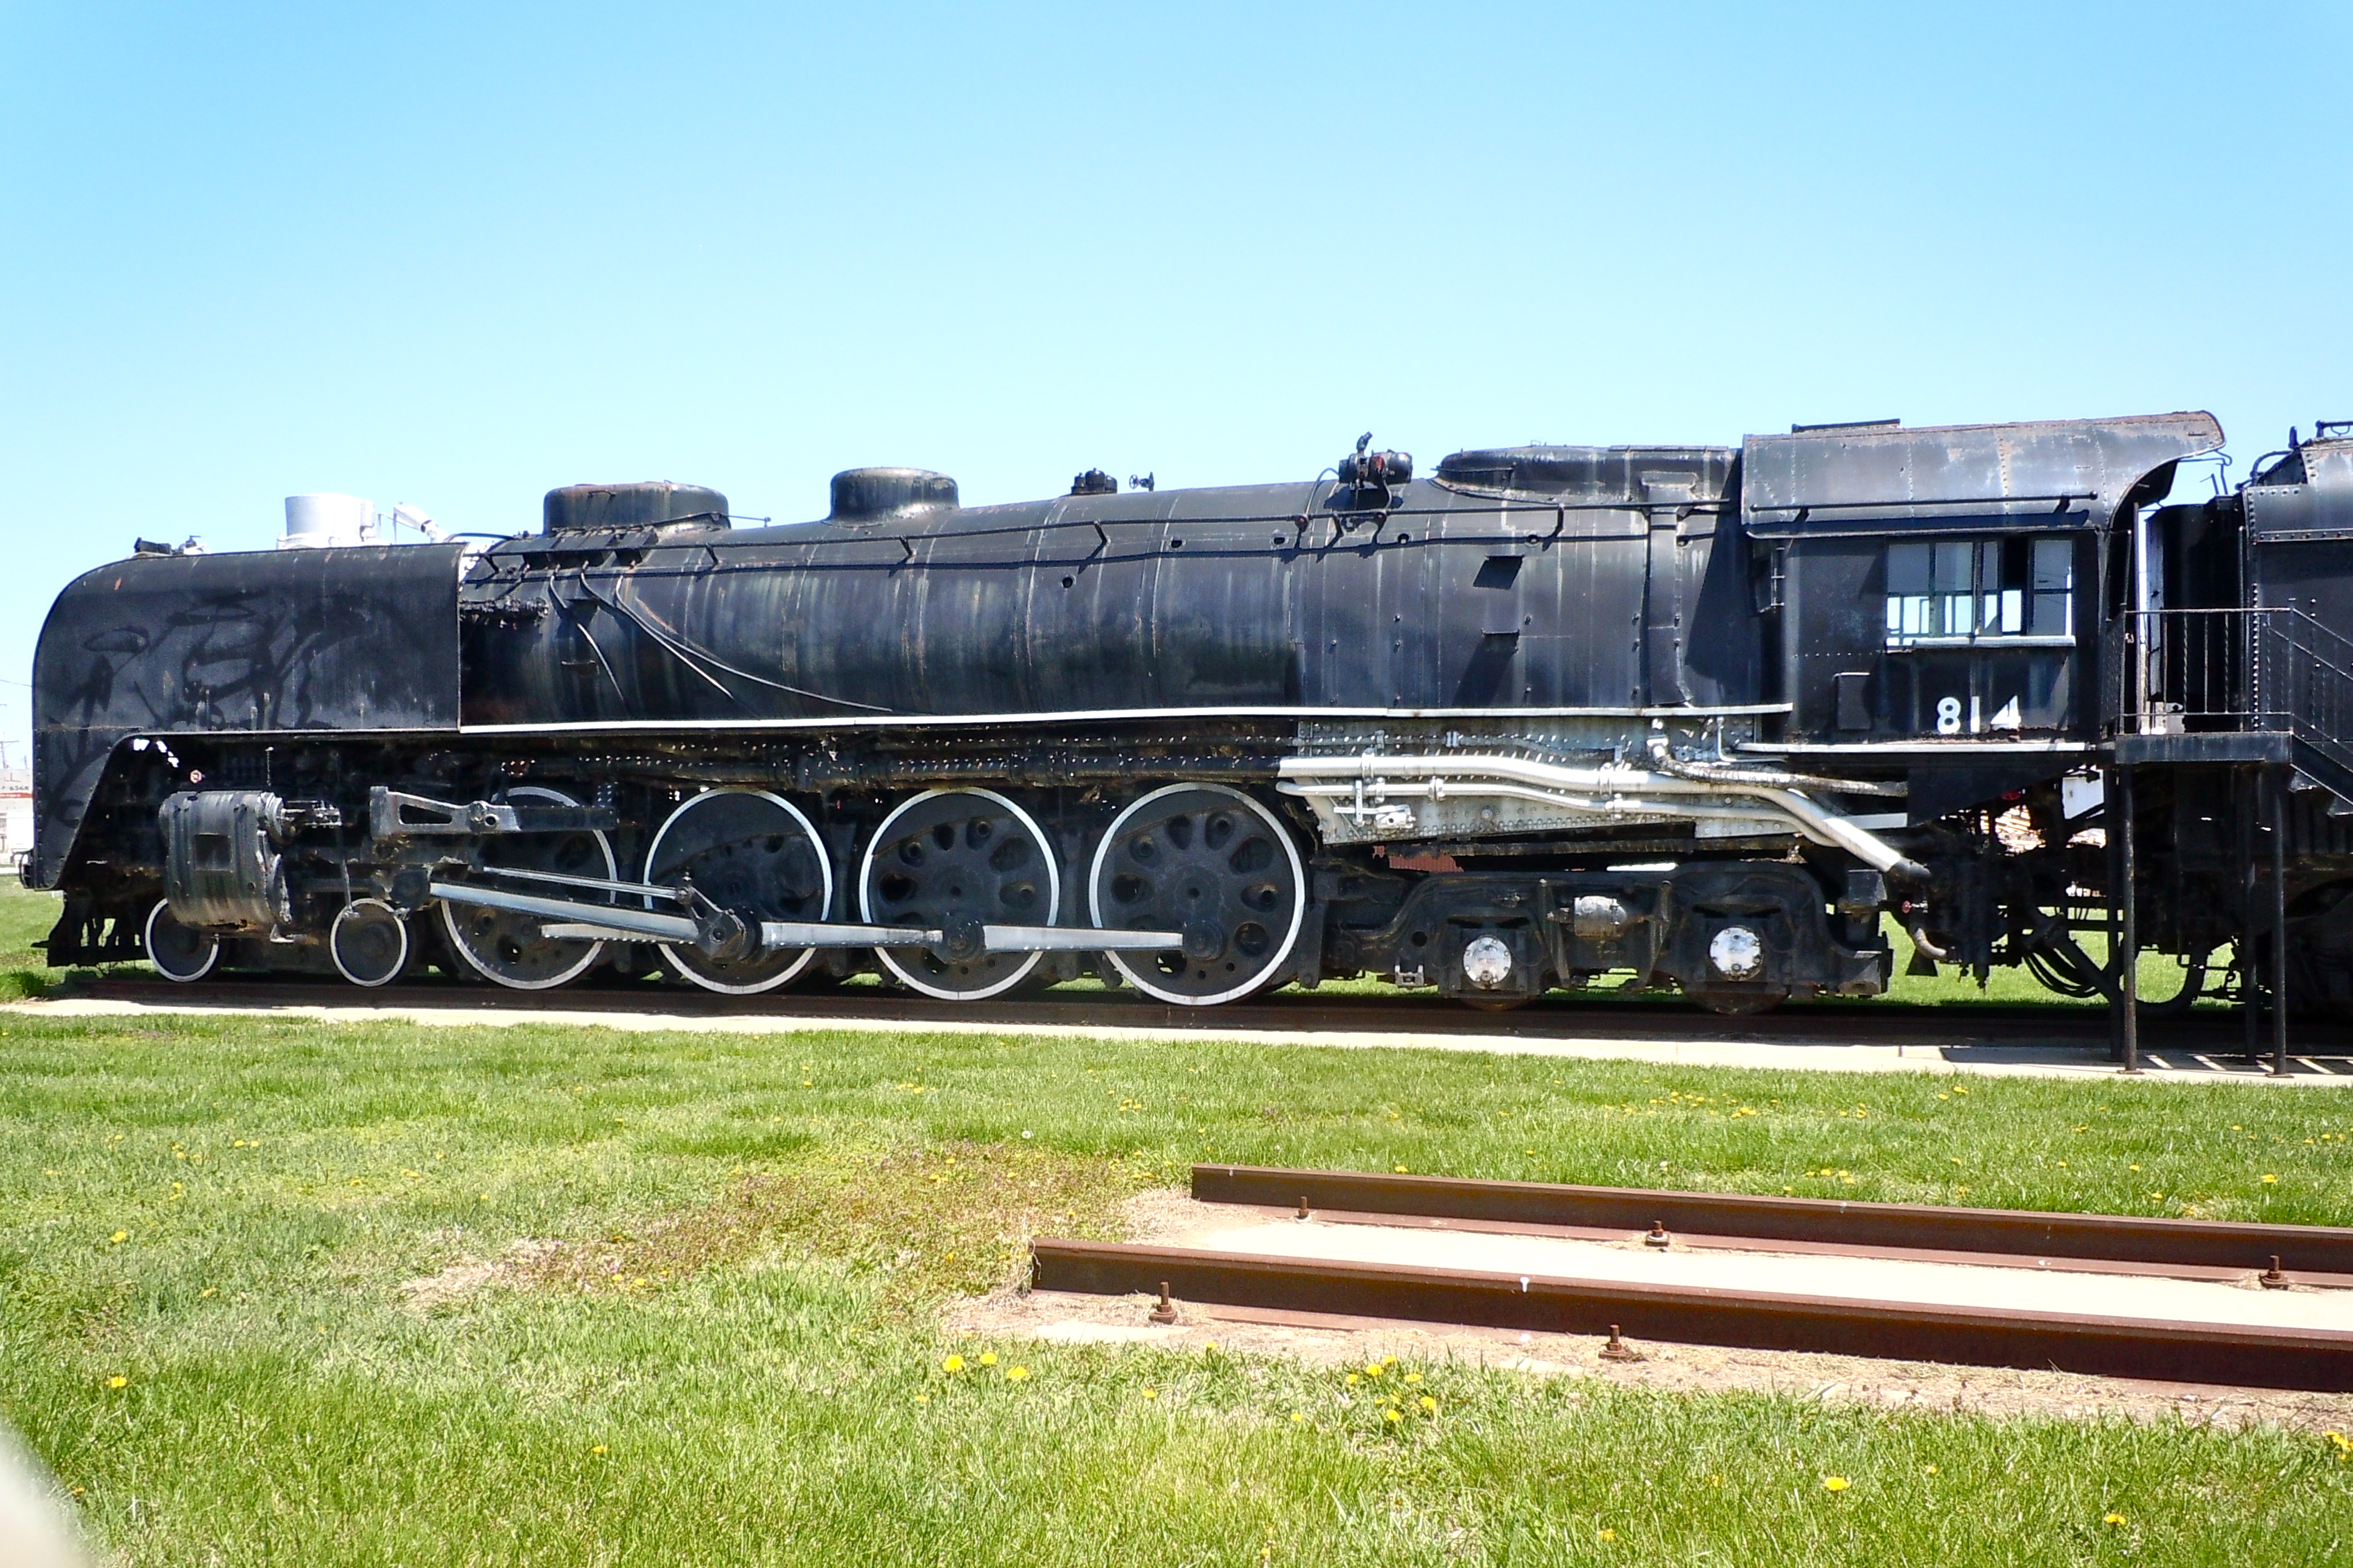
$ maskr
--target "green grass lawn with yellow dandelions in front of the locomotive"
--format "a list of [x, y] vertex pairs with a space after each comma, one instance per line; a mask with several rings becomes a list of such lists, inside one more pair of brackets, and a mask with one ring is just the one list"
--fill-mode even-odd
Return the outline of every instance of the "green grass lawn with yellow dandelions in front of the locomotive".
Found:
[[[2261, 1084], [0, 1013], [0, 1415], [132, 1563], [2348, 1561], [2313, 1434], [1447, 1363], [1391, 1422], [939, 1331], [1195, 1159], [2344, 1222], [2348, 1133]], [[402, 1293], [466, 1258], [520, 1262]]]

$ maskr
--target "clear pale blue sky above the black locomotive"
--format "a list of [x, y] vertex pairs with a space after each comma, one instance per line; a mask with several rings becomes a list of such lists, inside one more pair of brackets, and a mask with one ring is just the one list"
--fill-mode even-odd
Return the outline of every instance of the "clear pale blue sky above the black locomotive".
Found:
[[134, 534], [2353, 418], [2344, 5], [0, 0], [0, 738]]

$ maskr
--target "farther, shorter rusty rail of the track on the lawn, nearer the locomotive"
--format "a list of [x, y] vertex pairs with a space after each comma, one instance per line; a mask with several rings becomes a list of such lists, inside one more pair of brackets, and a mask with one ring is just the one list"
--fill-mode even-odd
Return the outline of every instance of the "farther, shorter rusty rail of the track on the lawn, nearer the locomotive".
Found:
[[1664, 1192], [1640, 1187], [1567, 1187], [1555, 1182], [1482, 1182], [1447, 1175], [1372, 1171], [1282, 1171], [1268, 1166], [1193, 1166], [1193, 1197], [1205, 1204], [1393, 1213], [1449, 1220], [1497, 1220], [1574, 1229], [1649, 1229], [1708, 1237], [2165, 1262], [2219, 1269], [2278, 1265], [2304, 1274], [2353, 1274], [2353, 1229], [2327, 1225], [2240, 1225], [2228, 1220], [2153, 1220], [2031, 1208], [1941, 1208], [1932, 1204], [1847, 1204], [1840, 1199]]

